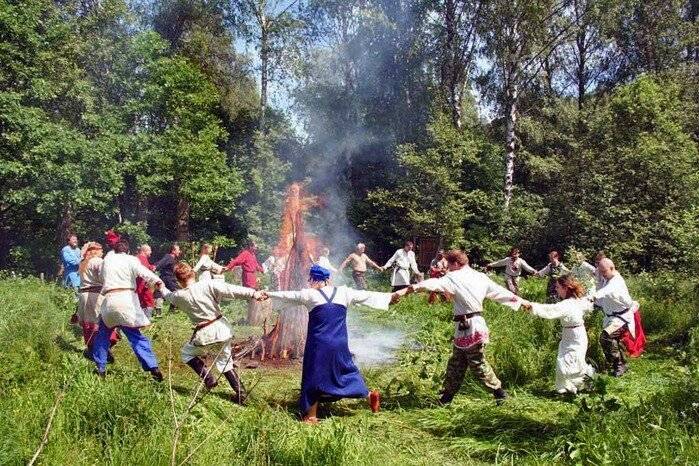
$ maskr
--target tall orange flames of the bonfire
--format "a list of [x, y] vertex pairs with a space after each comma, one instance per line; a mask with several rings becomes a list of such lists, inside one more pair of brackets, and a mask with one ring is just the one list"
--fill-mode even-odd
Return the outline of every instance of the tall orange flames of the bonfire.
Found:
[[301, 289], [306, 283], [311, 256], [315, 257], [319, 244], [317, 238], [306, 233], [303, 217], [316, 206], [317, 198], [307, 195], [301, 183], [292, 183], [287, 189], [279, 241], [273, 250], [275, 258], [284, 264], [279, 274], [280, 290]]

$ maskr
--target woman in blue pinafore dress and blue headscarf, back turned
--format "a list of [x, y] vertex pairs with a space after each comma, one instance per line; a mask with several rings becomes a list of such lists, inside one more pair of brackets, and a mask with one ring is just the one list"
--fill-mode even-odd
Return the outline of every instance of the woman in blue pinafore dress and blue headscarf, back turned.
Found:
[[320, 401], [367, 398], [373, 412], [379, 410], [379, 392], [371, 393], [352, 361], [347, 343], [347, 307], [363, 304], [388, 309], [397, 295], [332, 286], [330, 271], [314, 265], [309, 288], [300, 291], [267, 291], [267, 296], [306, 306], [308, 334], [303, 355], [301, 399], [303, 421], [315, 424]]

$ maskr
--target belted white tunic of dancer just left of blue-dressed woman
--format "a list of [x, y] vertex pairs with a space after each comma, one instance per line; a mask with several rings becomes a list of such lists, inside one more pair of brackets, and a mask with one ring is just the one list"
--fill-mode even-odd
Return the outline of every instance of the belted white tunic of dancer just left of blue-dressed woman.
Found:
[[[232, 285], [221, 280], [203, 280], [177, 291], [161, 289], [163, 298], [181, 309], [196, 327], [214, 321], [221, 315], [221, 301], [252, 298], [255, 290]], [[190, 343], [195, 346], [211, 345], [233, 338], [233, 331], [225, 317], [196, 331]]]

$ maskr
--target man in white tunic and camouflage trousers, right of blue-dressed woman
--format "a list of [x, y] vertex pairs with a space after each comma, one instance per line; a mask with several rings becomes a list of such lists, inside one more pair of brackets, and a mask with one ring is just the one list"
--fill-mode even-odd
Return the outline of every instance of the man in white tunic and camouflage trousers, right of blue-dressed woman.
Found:
[[485, 360], [485, 346], [490, 341], [488, 326], [483, 318], [483, 300], [492, 299], [512, 309], [519, 309], [521, 300], [501, 287], [487, 275], [473, 270], [468, 257], [459, 250], [446, 254], [449, 272], [441, 278], [430, 278], [397, 292], [436, 291], [454, 297], [454, 347], [447, 363], [441, 403], [449, 403], [461, 388], [470, 368], [483, 384], [492, 390], [498, 403], [507, 398], [502, 383]]

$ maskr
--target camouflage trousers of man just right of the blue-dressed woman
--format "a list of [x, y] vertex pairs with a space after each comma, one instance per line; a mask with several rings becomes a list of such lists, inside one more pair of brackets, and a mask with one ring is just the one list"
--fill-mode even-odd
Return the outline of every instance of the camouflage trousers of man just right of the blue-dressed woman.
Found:
[[470, 348], [453, 347], [451, 357], [447, 363], [447, 373], [444, 376], [442, 393], [451, 399], [461, 388], [466, 375], [466, 369], [470, 368], [478, 379], [491, 390], [497, 390], [502, 386], [493, 368], [485, 360], [485, 345], [474, 345]]

